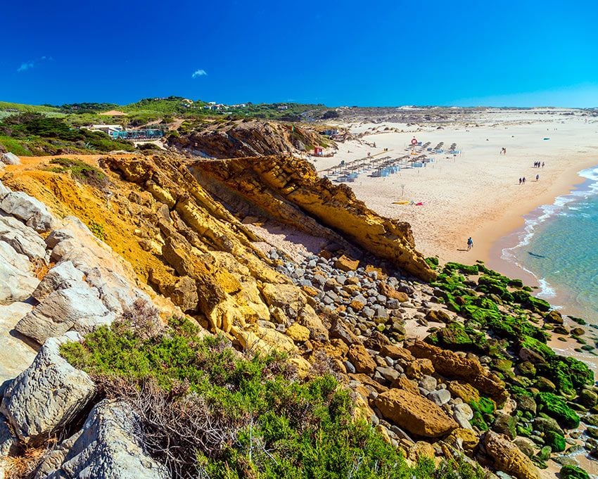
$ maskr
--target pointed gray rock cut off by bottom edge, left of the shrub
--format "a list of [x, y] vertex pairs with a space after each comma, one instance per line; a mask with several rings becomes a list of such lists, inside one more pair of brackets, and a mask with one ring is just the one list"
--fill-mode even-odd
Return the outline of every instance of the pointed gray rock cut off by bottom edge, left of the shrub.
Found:
[[45, 479], [167, 479], [165, 466], [144, 451], [141, 421], [126, 402], [103, 400], [91, 409], [82, 431], [57, 471]]

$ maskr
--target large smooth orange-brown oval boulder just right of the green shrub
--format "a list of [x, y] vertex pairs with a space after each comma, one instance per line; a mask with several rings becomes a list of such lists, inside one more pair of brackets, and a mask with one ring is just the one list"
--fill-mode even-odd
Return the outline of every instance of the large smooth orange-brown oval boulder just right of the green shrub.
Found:
[[382, 392], [374, 404], [388, 421], [425, 438], [438, 438], [458, 427], [443, 409], [405, 389]]

